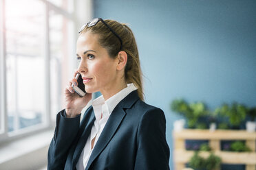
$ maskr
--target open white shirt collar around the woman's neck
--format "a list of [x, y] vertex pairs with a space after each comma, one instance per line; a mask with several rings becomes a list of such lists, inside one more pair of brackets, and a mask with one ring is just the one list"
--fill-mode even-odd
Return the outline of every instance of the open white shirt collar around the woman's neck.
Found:
[[101, 112], [103, 112], [103, 117], [105, 112], [110, 115], [114, 108], [116, 108], [116, 106], [119, 104], [119, 102], [134, 90], [137, 90], [137, 87], [131, 83], [127, 84], [126, 88], [123, 88], [118, 93], [116, 93], [116, 95], [113, 95], [106, 101], [104, 100], [103, 95], [100, 95], [100, 97], [94, 99], [94, 101], [92, 101], [92, 107], [94, 108], [96, 119], [100, 119]]

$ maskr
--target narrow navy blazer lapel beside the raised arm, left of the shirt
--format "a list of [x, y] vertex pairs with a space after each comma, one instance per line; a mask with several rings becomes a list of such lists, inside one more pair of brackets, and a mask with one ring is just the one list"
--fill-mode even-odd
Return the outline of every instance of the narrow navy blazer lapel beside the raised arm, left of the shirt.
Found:
[[94, 116], [94, 110], [91, 108], [88, 110], [88, 112], [85, 112], [85, 115], [83, 117], [83, 120], [81, 121], [81, 127], [80, 127], [80, 135], [81, 136], [78, 140], [78, 143], [76, 145], [76, 149], [74, 151], [73, 156], [73, 167], [76, 167], [76, 163], [78, 162], [78, 158], [81, 156], [81, 152], [83, 151], [83, 148], [85, 147], [85, 143], [87, 141], [87, 138], [92, 130], [92, 125], [94, 125], [95, 116]]

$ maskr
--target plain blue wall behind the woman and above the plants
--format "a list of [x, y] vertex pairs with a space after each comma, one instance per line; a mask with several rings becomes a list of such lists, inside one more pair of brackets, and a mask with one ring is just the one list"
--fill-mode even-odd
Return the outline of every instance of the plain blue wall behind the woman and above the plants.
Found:
[[133, 29], [145, 101], [164, 110], [171, 151], [176, 97], [256, 106], [256, 1], [95, 0], [94, 16]]

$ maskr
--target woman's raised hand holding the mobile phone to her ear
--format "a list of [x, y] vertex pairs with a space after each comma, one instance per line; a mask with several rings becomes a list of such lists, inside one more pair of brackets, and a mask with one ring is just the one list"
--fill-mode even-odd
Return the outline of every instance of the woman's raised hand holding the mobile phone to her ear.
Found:
[[[76, 77], [77, 73], [78, 71], [74, 73], [74, 77]], [[70, 80], [69, 85], [64, 91], [66, 115], [69, 118], [76, 117], [78, 114], [80, 114], [83, 108], [85, 108], [88, 102], [92, 99], [91, 93], [86, 93], [84, 97], [80, 97], [74, 92], [71, 86], [72, 84], [77, 86], [77, 81], [75, 78]]]

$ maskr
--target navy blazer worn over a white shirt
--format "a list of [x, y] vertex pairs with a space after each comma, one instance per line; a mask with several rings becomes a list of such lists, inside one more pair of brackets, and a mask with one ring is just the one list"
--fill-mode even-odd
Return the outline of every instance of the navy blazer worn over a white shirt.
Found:
[[[94, 125], [92, 106], [81, 123], [80, 117], [66, 118], [64, 110], [57, 114], [48, 169], [76, 169]], [[134, 90], [114, 108], [85, 169], [169, 169], [165, 123], [164, 112], [145, 104]]]

